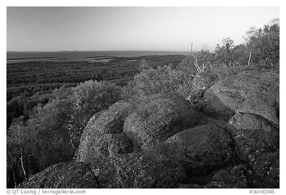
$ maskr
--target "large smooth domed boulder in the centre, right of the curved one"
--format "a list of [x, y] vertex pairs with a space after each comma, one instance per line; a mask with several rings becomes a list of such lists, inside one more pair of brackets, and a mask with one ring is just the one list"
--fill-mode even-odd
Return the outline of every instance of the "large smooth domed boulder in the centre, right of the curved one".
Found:
[[198, 114], [183, 97], [158, 94], [126, 118], [124, 133], [133, 151], [152, 150], [175, 133], [194, 127]]

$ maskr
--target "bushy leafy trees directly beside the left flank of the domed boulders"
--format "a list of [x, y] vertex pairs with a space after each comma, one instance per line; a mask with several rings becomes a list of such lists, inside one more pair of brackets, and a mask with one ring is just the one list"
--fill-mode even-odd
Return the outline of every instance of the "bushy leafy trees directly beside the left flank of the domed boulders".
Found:
[[66, 99], [37, 106], [28, 126], [40, 169], [71, 160], [89, 119], [120, 99], [121, 87], [90, 80], [74, 87]]

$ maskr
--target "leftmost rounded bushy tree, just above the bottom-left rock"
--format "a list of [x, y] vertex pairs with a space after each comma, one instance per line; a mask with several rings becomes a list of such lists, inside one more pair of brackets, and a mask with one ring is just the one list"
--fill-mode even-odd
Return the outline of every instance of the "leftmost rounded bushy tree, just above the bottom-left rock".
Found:
[[28, 120], [31, 130], [31, 153], [35, 156], [39, 171], [48, 166], [67, 162], [73, 158], [74, 149], [70, 139], [71, 102], [55, 99], [43, 108], [38, 107]]

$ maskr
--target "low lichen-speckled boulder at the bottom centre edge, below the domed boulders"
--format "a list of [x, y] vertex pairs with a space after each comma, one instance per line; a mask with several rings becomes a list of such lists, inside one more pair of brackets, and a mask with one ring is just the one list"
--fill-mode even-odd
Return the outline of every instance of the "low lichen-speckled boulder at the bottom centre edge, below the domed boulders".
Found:
[[187, 179], [184, 167], [164, 155], [104, 157], [91, 166], [101, 188], [176, 188]]

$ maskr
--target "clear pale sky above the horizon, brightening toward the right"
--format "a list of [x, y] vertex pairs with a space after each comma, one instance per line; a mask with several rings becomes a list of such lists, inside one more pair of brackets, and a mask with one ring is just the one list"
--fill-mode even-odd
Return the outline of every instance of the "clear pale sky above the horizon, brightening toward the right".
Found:
[[7, 51], [189, 51], [244, 41], [279, 7], [7, 7]]

